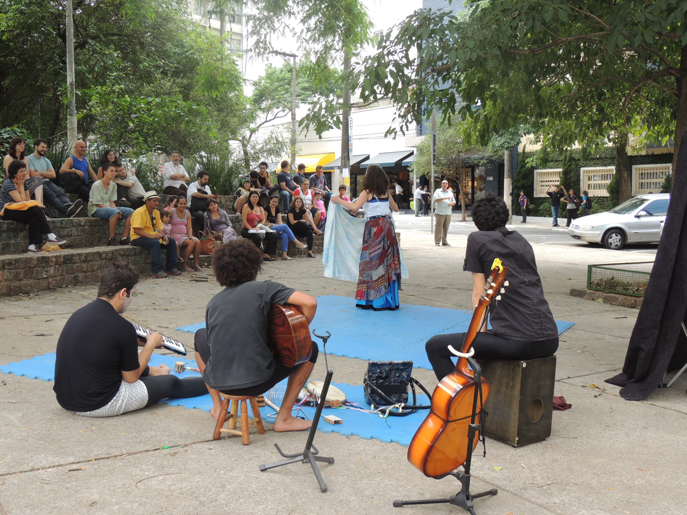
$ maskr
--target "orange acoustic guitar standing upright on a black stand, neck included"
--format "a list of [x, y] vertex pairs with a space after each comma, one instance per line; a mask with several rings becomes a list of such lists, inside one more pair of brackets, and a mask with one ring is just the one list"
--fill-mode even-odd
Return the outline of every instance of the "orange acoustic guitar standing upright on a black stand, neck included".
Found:
[[[501, 299], [504, 293], [504, 283], [508, 267], [503, 266], [501, 260], [495, 260], [491, 267], [492, 273], [487, 279], [484, 290], [480, 295], [475, 312], [465, 335], [458, 363], [448, 376], [440, 380], [431, 396], [431, 411], [425, 421], [420, 424], [410, 446], [408, 447], [408, 461], [427, 477], [440, 477], [455, 470], [465, 463], [468, 450], [468, 426], [473, 413], [475, 388], [482, 387], [481, 395], [477, 396], [477, 418], [475, 424], [482, 422], [482, 405], [489, 396], [489, 382], [483, 377], [475, 378], [468, 366], [465, 354], [470, 354], [475, 336], [486, 324], [487, 308], [493, 298]], [[452, 347], [449, 350], [455, 353]], [[479, 432], [473, 441], [475, 449]]]

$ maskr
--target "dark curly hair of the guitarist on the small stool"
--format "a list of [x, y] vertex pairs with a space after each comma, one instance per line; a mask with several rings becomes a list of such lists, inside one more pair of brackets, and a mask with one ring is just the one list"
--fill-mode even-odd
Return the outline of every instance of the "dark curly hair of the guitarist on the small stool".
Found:
[[249, 240], [231, 240], [212, 254], [212, 270], [225, 288], [255, 281], [262, 268], [262, 251]]

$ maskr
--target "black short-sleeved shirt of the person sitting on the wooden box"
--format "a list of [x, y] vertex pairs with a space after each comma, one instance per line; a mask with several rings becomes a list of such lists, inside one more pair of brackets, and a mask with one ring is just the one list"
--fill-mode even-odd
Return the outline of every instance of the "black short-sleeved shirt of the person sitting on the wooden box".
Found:
[[489, 321], [493, 334], [520, 341], [541, 341], [558, 336], [556, 321], [544, 298], [532, 245], [517, 231], [499, 227], [495, 231], [477, 231], [468, 236], [464, 271], [491, 274], [491, 265], [499, 258], [510, 271], [501, 300], [490, 305]]

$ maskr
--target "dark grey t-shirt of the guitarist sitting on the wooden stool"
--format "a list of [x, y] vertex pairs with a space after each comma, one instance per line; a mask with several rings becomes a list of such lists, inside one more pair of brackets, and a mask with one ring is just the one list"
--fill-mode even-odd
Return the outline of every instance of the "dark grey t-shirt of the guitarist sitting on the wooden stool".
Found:
[[294, 292], [274, 281], [249, 281], [210, 299], [205, 309], [210, 344], [203, 374], [207, 385], [217, 390], [247, 388], [272, 375], [275, 361], [267, 347], [267, 315], [273, 304], [285, 304]]

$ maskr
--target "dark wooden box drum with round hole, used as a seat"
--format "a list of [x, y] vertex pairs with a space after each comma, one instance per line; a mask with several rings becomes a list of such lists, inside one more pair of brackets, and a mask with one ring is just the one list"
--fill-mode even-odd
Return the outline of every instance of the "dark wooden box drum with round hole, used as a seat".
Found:
[[482, 360], [491, 383], [484, 434], [514, 447], [551, 435], [556, 356], [527, 361]]

